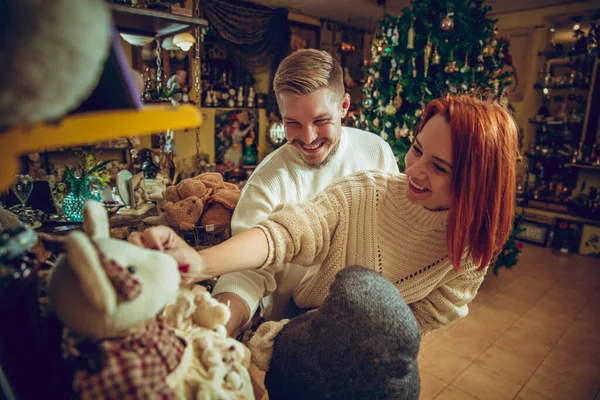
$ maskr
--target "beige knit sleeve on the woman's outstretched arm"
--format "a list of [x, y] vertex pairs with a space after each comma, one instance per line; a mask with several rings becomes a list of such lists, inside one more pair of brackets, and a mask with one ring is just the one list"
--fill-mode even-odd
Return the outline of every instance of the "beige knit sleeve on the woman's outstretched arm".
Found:
[[347, 213], [344, 199], [343, 185], [333, 184], [311, 201], [277, 207], [258, 225], [269, 242], [269, 255], [261, 269], [275, 273], [288, 263], [305, 267], [321, 264], [340, 220]]

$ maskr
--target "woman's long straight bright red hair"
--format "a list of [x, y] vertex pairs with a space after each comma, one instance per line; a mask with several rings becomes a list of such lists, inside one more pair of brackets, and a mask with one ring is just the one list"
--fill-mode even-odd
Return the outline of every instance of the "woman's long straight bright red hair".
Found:
[[502, 250], [513, 227], [517, 126], [495, 101], [449, 95], [427, 105], [415, 136], [435, 115], [444, 116], [452, 132], [448, 256], [458, 270], [467, 250], [481, 269]]

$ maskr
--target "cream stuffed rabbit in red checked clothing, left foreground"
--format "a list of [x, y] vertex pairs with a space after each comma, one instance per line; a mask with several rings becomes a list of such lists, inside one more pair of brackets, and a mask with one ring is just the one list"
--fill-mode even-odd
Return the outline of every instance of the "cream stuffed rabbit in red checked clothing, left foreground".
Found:
[[48, 278], [50, 308], [64, 324], [64, 353], [75, 369], [74, 394], [176, 398], [176, 382], [167, 382], [185, 374], [191, 349], [184, 356], [186, 343], [157, 316], [177, 296], [177, 263], [110, 239], [97, 202], [86, 204], [83, 229], [69, 234]]

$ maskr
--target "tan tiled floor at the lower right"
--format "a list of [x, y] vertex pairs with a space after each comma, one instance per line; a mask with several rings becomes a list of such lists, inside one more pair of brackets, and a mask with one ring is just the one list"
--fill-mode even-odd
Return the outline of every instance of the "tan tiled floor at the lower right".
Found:
[[469, 316], [423, 338], [419, 357], [421, 400], [593, 400], [600, 260], [525, 245], [512, 270], [490, 271]]

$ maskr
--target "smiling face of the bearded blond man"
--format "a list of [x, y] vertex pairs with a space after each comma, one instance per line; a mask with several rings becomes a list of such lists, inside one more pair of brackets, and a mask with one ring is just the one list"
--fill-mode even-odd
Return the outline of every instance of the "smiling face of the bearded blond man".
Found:
[[287, 140], [308, 165], [320, 167], [339, 145], [350, 95], [340, 98], [325, 88], [305, 95], [284, 91], [277, 100]]

